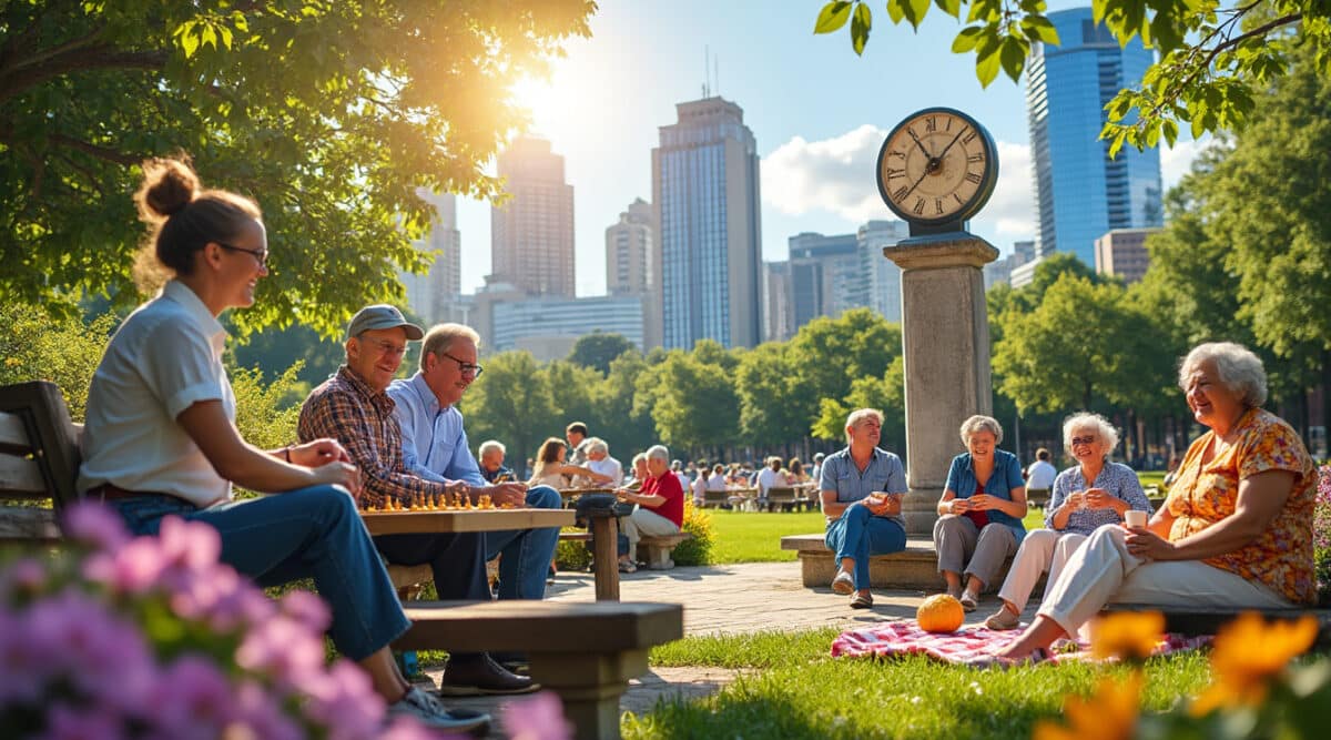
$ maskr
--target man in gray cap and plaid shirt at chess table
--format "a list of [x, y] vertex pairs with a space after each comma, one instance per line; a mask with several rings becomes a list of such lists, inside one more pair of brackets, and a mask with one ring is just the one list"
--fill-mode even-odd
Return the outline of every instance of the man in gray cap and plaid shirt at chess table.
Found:
[[[423, 335], [394, 306], [361, 309], [347, 325], [346, 365], [301, 406], [299, 438], [331, 437], [359, 466], [362, 507], [383, 507], [390, 499], [410, 504], [425, 495], [467, 488], [462, 480], [427, 480], [403, 463], [402, 430], [386, 390], [402, 365], [407, 342]], [[490, 600], [486, 540], [479, 532], [381, 535], [374, 538], [374, 546], [390, 563], [429, 563], [441, 599]], [[526, 693], [539, 688], [484, 653], [453, 653], [443, 684], [454, 687], [455, 695]]]

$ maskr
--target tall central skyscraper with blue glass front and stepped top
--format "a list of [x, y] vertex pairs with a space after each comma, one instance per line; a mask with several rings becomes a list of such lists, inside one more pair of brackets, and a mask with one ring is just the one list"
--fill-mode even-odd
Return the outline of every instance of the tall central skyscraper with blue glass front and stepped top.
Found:
[[675, 109], [679, 121], [660, 126], [652, 149], [663, 343], [751, 347], [763, 331], [757, 144], [728, 100]]

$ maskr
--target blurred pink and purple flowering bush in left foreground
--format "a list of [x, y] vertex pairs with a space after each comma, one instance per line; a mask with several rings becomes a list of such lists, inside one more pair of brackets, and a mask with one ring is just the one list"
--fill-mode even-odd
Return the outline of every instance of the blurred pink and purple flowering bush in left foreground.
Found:
[[218, 563], [202, 523], [130, 540], [100, 504], [68, 512], [72, 546], [0, 566], [5, 737], [429, 737], [350, 660], [325, 663], [327, 607], [280, 602]]

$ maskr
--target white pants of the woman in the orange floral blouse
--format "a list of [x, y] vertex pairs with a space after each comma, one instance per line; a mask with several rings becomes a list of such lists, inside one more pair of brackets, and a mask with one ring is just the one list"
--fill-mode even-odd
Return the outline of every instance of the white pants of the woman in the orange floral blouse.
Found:
[[1226, 610], [1295, 606], [1266, 586], [1201, 560], [1142, 560], [1127, 551], [1126, 535], [1117, 524], [1095, 530], [1049, 588], [1040, 615], [1074, 635], [1109, 602]]

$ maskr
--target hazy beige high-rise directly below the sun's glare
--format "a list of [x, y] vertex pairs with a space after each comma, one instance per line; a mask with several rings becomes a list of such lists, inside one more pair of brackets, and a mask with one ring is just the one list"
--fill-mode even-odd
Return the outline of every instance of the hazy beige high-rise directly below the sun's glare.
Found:
[[564, 158], [542, 138], [515, 140], [498, 158], [511, 197], [490, 214], [491, 269], [496, 282], [527, 295], [572, 298], [574, 188]]

